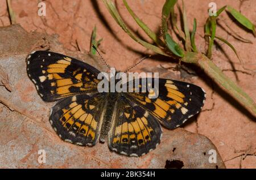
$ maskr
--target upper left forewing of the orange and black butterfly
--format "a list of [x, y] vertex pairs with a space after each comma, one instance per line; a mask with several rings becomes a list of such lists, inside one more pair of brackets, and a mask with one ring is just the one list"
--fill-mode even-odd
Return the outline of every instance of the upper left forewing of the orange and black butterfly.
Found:
[[63, 54], [37, 51], [27, 57], [27, 74], [44, 101], [97, 91], [99, 72]]

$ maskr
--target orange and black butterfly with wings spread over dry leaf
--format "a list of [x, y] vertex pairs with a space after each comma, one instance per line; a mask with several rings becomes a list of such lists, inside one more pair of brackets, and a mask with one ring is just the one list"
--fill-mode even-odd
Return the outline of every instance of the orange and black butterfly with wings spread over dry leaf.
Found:
[[27, 74], [43, 101], [57, 101], [49, 122], [61, 139], [82, 146], [108, 140], [110, 150], [126, 156], [155, 149], [162, 137], [160, 125], [179, 127], [205, 101], [197, 85], [161, 78], [157, 98], [149, 98], [150, 91], [99, 92], [97, 68], [48, 51], [28, 55]]

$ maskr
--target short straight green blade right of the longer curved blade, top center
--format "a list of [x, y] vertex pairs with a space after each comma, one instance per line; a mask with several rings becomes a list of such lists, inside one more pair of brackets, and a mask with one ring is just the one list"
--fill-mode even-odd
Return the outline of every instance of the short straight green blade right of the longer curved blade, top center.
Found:
[[147, 27], [147, 25], [145, 23], [142, 22], [141, 19], [138, 18], [138, 16], [133, 12], [133, 10], [131, 10], [130, 6], [128, 5], [128, 3], [126, 2], [126, 0], [123, 0], [123, 3], [125, 4], [125, 7], [127, 8], [127, 10], [129, 11], [130, 15], [133, 17], [133, 19], [135, 20], [135, 22], [137, 22], [137, 24], [139, 25], [139, 27], [141, 27], [143, 29], [144, 32], [146, 32], [146, 34], [157, 44], [160, 46], [164, 46], [164, 42], [162, 40], [160, 40], [160, 38], [158, 38], [158, 36], [151, 31], [150, 28]]

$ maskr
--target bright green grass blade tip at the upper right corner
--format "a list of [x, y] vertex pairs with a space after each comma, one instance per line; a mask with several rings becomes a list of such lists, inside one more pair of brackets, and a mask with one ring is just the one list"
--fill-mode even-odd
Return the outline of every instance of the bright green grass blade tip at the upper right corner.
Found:
[[226, 9], [240, 24], [242, 24], [244, 27], [246, 27], [247, 29], [250, 29], [251, 31], [253, 31], [254, 35], [255, 35], [255, 26], [253, 23], [250, 22], [249, 19], [247, 19], [245, 16], [243, 16], [240, 12], [238, 12], [237, 10], [235, 10], [233, 7], [231, 6], [227, 6]]

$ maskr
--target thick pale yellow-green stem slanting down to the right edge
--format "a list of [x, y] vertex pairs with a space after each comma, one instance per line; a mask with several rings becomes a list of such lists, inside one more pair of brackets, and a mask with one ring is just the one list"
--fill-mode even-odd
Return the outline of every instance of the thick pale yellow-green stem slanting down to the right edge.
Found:
[[207, 75], [220, 87], [240, 102], [249, 112], [256, 116], [256, 104], [236, 83], [226, 76], [208, 57], [199, 53], [185, 53], [181, 59], [183, 62], [196, 63]]

